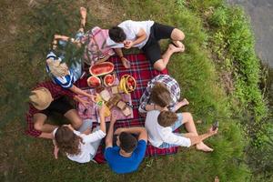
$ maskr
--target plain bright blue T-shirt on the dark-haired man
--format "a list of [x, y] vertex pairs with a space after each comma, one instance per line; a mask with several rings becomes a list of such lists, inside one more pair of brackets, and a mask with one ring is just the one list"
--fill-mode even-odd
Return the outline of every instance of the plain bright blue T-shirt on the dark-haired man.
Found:
[[147, 142], [139, 140], [131, 157], [122, 157], [119, 147], [106, 147], [105, 157], [109, 167], [117, 174], [131, 173], [137, 170], [145, 157]]

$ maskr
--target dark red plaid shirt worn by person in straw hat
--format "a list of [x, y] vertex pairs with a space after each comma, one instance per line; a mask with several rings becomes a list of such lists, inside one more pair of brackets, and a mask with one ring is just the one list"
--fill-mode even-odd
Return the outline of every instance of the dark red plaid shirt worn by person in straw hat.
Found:
[[[57, 98], [59, 98], [61, 96], [69, 96], [71, 98], [76, 96], [76, 94], [74, 94], [70, 90], [66, 90], [66, 89], [62, 88], [61, 86], [54, 84], [52, 81], [47, 81], [47, 82], [43, 82], [41, 84], [38, 84], [37, 86], [35, 86], [33, 88], [33, 90], [37, 87], [47, 88], [49, 90], [49, 92], [51, 93], [51, 96], [53, 97], [54, 100], [56, 100]], [[29, 110], [25, 114], [26, 122], [27, 122], [27, 128], [25, 130], [25, 133], [27, 135], [37, 137], [42, 134], [41, 131], [35, 130], [34, 122], [33, 122], [33, 116], [39, 112], [40, 112], [40, 110], [36, 109], [32, 104], [29, 104]]]

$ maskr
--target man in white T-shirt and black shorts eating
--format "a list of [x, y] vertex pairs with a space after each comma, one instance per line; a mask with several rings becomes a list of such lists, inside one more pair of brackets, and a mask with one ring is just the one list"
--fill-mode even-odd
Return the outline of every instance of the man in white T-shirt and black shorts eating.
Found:
[[[144, 51], [154, 68], [162, 71], [166, 68], [170, 56], [185, 50], [185, 46], [180, 42], [184, 37], [181, 30], [169, 25], [161, 25], [150, 20], [141, 22], [126, 20], [109, 29], [106, 45], [115, 48], [116, 54], [127, 68], [130, 65], [121, 48], [138, 47]], [[158, 41], [167, 38], [172, 40], [172, 44], [168, 45], [167, 51], [161, 56]]]

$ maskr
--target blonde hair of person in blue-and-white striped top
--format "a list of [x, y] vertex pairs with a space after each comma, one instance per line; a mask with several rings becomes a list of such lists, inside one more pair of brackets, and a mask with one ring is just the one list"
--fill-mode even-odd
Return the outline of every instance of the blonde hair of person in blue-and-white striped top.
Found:
[[66, 76], [69, 74], [66, 63], [61, 63], [60, 59], [54, 60], [52, 58], [48, 58], [46, 59], [46, 64], [49, 67], [50, 72], [54, 76]]

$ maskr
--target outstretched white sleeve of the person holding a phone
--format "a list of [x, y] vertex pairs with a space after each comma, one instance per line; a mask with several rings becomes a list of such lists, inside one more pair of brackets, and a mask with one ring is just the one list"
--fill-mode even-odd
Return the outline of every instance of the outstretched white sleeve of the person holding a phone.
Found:
[[168, 144], [175, 144], [177, 146], [182, 146], [182, 147], [190, 147], [191, 142], [190, 139], [185, 137], [185, 136], [177, 136], [174, 134], [169, 127], [165, 127], [161, 130], [160, 135], [162, 137], [162, 140]]

